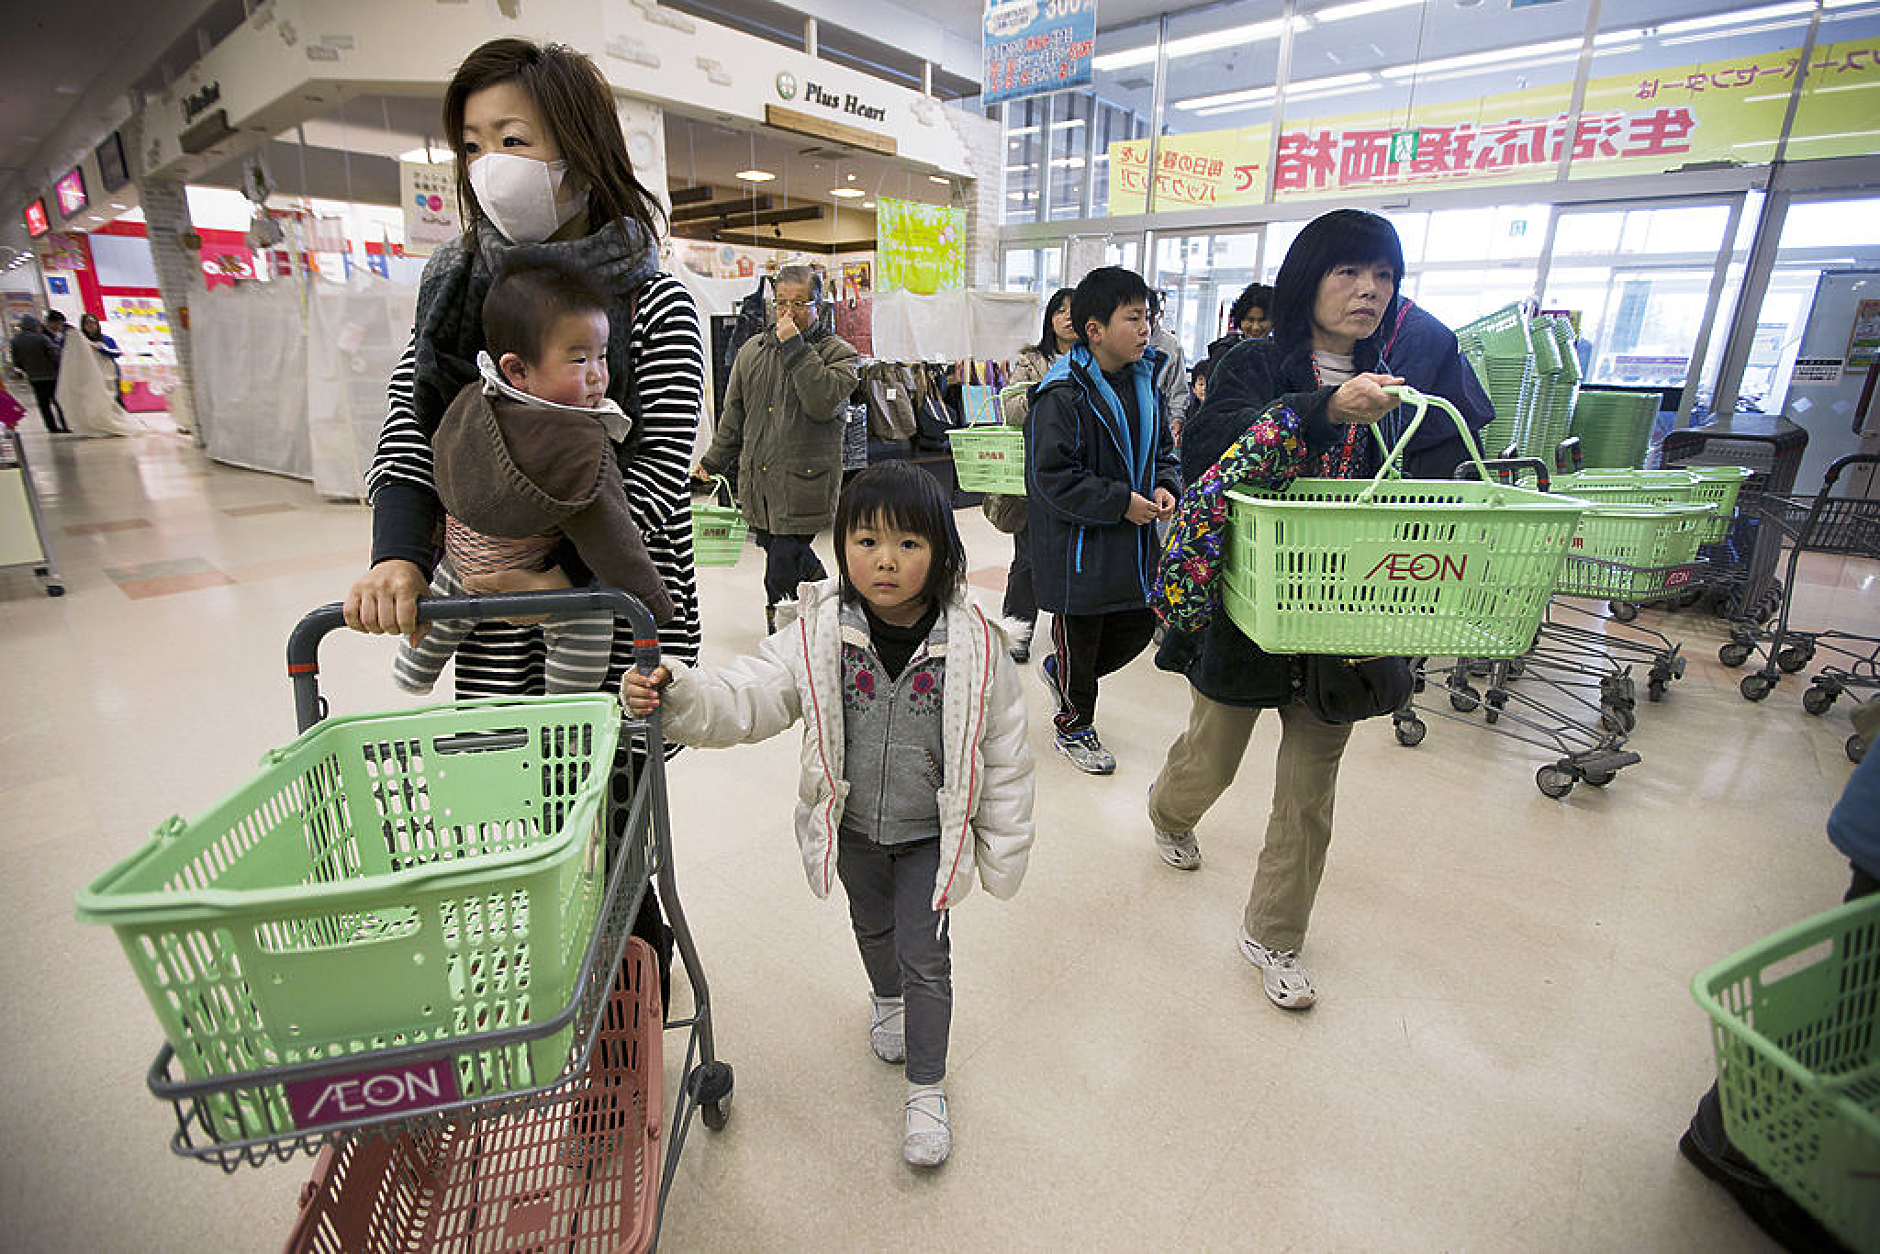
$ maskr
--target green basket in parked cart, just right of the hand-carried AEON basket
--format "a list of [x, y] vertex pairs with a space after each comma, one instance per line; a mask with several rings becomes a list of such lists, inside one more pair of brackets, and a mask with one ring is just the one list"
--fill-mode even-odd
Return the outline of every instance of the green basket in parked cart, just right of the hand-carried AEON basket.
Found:
[[1690, 585], [1713, 506], [1628, 506], [1594, 500], [1560, 568], [1559, 592], [1649, 602]]

